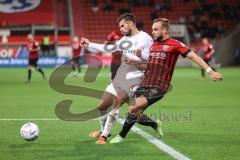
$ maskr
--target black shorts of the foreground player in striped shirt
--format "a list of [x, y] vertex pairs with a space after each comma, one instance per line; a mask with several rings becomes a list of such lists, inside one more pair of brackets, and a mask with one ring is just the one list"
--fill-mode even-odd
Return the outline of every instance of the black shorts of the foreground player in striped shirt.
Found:
[[141, 95], [147, 99], [149, 106], [164, 97], [164, 93], [160, 90], [159, 87], [140, 86], [135, 92], [135, 96], [139, 97]]

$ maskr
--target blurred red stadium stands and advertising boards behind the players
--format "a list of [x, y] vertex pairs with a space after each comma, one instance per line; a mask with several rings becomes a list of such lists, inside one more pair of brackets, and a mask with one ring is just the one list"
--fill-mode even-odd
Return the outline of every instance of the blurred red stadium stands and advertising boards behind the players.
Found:
[[[218, 64], [237, 65], [239, 7], [237, 0], [3, 0], [0, 1], [0, 66], [26, 65], [24, 44], [28, 33], [49, 50], [40, 52], [40, 64], [60, 64], [71, 55], [73, 36], [104, 42], [107, 35], [118, 30], [116, 19], [124, 12], [135, 13], [138, 26], [149, 34], [154, 18], [169, 18], [172, 37], [197, 53], [201, 37], [208, 37], [216, 50], [214, 57]], [[109, 64], [110, 58], [104, 54], [102, 58]]]

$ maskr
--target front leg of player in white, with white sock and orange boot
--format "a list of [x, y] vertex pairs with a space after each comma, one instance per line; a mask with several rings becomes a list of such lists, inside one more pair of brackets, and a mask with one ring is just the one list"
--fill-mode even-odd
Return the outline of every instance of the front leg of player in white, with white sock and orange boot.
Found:
[[108, 113], [103, 132], [101, 134], [101, 137], [99, 137], [98, 141], [96, 142], [96, 144], [106, 144], [107, 137], [108, 135], [110, 135], [112, 128], [118, 119], [120, 107], [124, 104], [124, 102], [127, 102], [128, 99], [129, 99], [128, 94], [125, 91], [121, 90], [118, 92], [117, 99], [114, 100], [114, 107]]

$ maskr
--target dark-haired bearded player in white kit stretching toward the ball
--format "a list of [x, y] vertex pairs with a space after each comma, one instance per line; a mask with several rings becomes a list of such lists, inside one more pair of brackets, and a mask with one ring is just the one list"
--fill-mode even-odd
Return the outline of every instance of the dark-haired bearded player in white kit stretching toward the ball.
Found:
[[[146, 61], [148, 60], [148, 52], [153, 44], [153, 40], [146, 32], [139, 31], [136, 27], [136, 18], [134, 14], [125, 13], [118, 18], [118, 24], [121, 33], [124, 35], [114, 45], [103, 45], [92, 43], [86, 38], [81, 39], [83, 47], [97, 49], [101, 52], [122, 51], [122, 64], [119, 67], [117, 74], [109, 84], [102, 95], [101, 101], [98, 104], [99, 120], [101, 131], [90, 133], [91, 137], [99, 137], [96, 144], [106, 144], [107, 137], [110, 135], [111, 129], [115, 124], [119, 109], [111, 110], [108, 113], [108, 108], [114, 105], [115, 108], [123, 105], [124, 102], [130, 102], [133, 98], [135, 90], [138, 88], [142, 77], [143, 70], [139, 66], [129, 65], [132, 60]], [[111, 51], [110, 51], [111, 49]], [[154, 128], [160, 133], [160, 125]]]

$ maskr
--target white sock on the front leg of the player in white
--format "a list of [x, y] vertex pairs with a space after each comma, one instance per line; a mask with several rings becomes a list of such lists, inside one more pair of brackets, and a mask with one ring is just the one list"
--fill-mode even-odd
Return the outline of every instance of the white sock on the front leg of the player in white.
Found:
[[104, 126], [104, 129], [103, 129], [103, 132], [102, 132], [101, 136], [108, 137], [108, 135], [112, 131], [112, 128], [113, 128], [114, 124], [116, 123], [116, 121], [118, 119], [119, 112], [120, 112], [120, 109], [115, 109], [114, 108], [112, 111], [110, 111], [108, 113], [107, 121], [105, 123], [105, 126]]

